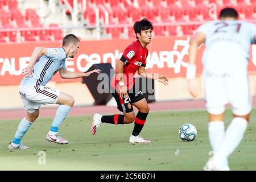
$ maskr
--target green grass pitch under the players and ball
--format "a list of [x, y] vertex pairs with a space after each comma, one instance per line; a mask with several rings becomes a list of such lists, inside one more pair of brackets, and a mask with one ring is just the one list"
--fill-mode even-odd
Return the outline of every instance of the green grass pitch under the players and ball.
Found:
[[[225, 126], [231, 117], [228, 110]], [[232, 170], [256, 170], [255, 121], [254, 109], [245, 137], [229, 157]], [[202, 170], [211, 150], [205, 110], [151, 112], [141, 133], [151, 140], [149, 144], [129, 143], [133, 123], [118, 126], [103, 123], [93, 136], [92, 115], [65, 119], [59, 134], [69, 144], [48, 143], [45, 138], [52, 118], [39, 116], [22, 139], [31, 148], [9, 151], [7, 146], [19, 122], [19, 119], [0, 121], [0, 170]], [[193, 142], [183, 142], [178, 137], [179, 127], [184, 123], [192, 123], [197, 129]], [[45, 152], [45, 160], [40, 151]]]

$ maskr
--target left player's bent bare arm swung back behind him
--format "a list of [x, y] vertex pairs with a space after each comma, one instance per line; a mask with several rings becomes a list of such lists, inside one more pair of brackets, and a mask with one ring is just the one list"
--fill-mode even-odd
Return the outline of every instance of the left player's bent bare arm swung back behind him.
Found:
[[32, 74], [32, 69], [36, 63], [36, 60], [42, 55], [47, 56], [47, 48], [45, 47], [35, 47], [34, 51], [32, 52], [32, 55], [30, 57], [30, 63], [27, 65], [27, 67], [22, 69], [22, 74], [24, 76], [30, 76]]

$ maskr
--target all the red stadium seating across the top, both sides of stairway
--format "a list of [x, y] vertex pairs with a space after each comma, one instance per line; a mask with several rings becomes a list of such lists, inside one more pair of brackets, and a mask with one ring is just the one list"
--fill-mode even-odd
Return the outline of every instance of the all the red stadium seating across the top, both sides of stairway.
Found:
[[[71, 7], [74, 6], [73, 0], [66, 2]], [[81, 9], [84, 1], [77, 2], [82, 14], [81, 26], [87, 28], [96, 26], [98, 8], [100, 26], [104, 29], [102, 38], [134, 37], [133, 28], [130, 26], [143, 17], [154, 23], [155, 36], [191, 35], [204, 21], [216, 19], [216, 14], [224, 6], [236, 8], [240, 19], [256, 18], [256, 2], [251, 0], [88, 0], [85, 1], [85, 11]], [[0, 0], [0, 42], [49, 41], [63, 38], [60, 24], [43, 24], [35, 9], [21, 11], [19, 3], [17, 0]], [[65, 7], [63, 0], [60, 5], [61, 8]], [[71, 12], [65, 10], [66, 15], [70, 16]], [[26, 30], [15, 31], [14, 28]]]

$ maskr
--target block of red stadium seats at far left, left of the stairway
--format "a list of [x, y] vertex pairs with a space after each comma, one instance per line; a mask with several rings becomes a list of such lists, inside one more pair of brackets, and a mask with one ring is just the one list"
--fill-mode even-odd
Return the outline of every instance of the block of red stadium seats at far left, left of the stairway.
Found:
[[[63, 31], [57, 24], [55, 24], [54, 30], [47, 30], [40, 23], [40, 17], [36, 10], [26, 9], [23, 14], [18, 5], [17, 0], [0, 0], [0, 42], [63, 39]], [[26, 28], [26, 30], [19, 31], [14, 28]], [[33, 30], [32, 28], [39, 28], [40, 30]]]

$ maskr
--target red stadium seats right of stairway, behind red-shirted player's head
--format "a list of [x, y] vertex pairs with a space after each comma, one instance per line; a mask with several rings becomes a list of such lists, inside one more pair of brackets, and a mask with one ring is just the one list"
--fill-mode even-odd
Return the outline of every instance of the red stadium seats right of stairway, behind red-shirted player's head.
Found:
[[[170, 23], [181, 22], [181, 35], [191, 35], [198, 27], [200, 22], [214, 20], [222, 7], [234, 7], [241, 14], [240, 19], [255, 19], [256, 18], [256, 2], [248, 0], [131, 0], [131, 4], [125, 0], [90, 0], [90, 16], [84, 18], [90, 22], [89, 25], [95, 24], [95, 11], [93, 7], [104, 6], [109, 13], [109, 24], [127, 24], [133, 23], [138, 19], [146, 17], [152, 23]], [[216, 8], [216, 10], [214, 10]], [[217, 14], [213, 14], [216, 12]], [[88, 12], [85, 12], [88, 14]], [[92, 18], [93, 17], [93, 18]], [[101, 24], [105, 25], [104, 15], [100, 16]], [[196, 24], [187, 25], [186, 22], [197, 22]], [[184, 25], [183, 25], [183, 24]], [[196, 25], [196, 26], [195, 26]], [[156, 27], [155, 36], [176, 36], [176, 27]], [[168, 34], [167, 34], [168, 32]], [[117, 31], [109, 31], [117, 37]], [[133, 31], [129, 28], [127, 36], [132, 37]]]

